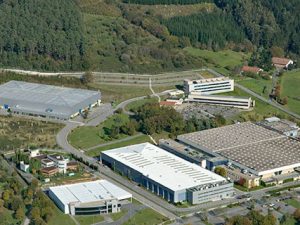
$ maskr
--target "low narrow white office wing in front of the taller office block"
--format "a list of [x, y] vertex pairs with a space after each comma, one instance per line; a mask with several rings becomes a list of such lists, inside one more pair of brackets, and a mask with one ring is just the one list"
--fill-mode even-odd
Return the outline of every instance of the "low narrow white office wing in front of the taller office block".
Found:
[[202, 95], [198, 92], [191, 92], [186, 99], [187, 102], [199, 102], [212, 105], [221, 105], [240, 109], [249, 109], [255, 106], [255, 101], [251, 97]]

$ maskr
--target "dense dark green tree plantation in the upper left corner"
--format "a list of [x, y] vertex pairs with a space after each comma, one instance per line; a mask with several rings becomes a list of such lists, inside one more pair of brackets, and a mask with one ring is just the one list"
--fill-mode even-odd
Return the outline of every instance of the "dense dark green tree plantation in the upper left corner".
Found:
[[73, 0], [0, 1], [1, 64], [42, 70], [81, 69], [82, 29]]

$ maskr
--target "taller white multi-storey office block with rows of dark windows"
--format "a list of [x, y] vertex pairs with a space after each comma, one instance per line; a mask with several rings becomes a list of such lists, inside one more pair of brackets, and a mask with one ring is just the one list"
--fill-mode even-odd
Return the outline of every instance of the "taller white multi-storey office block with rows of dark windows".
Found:
[[186, 94], [198, 92], [202, 95], [224, 93], [234, 90], [234, 80], [228, 77], [218, 77], [200, 80], [184, 80]]

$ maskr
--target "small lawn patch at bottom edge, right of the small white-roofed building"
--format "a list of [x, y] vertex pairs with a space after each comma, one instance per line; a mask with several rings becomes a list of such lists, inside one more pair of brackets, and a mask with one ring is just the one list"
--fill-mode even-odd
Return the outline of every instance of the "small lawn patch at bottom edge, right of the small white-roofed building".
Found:
[[137, 214], [135, 214], [131, 219], [125, 222], [123, 225], [157, 225], [168, 219], [159, 213], [155, 212], [153, 209], [146, 208], [143, 209]]

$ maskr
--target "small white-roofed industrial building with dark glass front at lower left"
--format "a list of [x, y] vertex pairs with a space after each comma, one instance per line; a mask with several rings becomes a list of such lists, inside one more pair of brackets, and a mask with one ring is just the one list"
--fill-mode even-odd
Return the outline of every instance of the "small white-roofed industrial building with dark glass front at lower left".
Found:
[[65, 213], [90, 215], [120, 211], [122, 202], [132, 195], [106, 180], [49, 188], [49, 197]]

